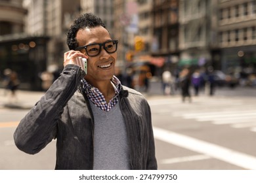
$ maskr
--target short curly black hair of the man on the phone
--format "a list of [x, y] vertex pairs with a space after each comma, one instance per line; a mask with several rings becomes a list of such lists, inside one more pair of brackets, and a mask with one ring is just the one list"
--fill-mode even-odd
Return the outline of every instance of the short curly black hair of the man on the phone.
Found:
[[70, 48], [70, 50], [74, 50], [75, 48], [78, 47], [78, 42], [75, 37], [79, 29], [84, 29], [86, 27], [91, 28], [91, 27], [97, 27], [97, 26], [102, 26], [106, 28], [102, 20], [95, 14], [92, 14], [92, 13], [81, 14], [78, 18], [75, 19], [74, 24], [71, 25], [70, 30], [67, 33], [68, 48]]

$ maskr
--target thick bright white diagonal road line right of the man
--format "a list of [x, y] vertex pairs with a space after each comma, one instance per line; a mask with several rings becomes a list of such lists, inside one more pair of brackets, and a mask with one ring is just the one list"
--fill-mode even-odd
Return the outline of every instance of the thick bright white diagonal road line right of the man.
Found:
[[256, 169], [256, 158], [254, 156], [237, 152], [217, 144], [194, 139], [186, 135], [181, 135], [173, 131], [167, 131], [159, 127], [154, 127], [154, 137], [160, 141], [168, 142], [212, 158], [220, 159], [244, 169]]

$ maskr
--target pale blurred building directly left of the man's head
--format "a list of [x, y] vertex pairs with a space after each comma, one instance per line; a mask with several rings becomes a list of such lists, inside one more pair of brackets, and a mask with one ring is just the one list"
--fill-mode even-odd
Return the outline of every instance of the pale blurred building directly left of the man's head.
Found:
[[24, 7], [28, 9], [26, 32], [50, 38], [46, 53], [47, 67], [62, 67], [63, 54], [68, 50], [66, 33], [80, 13], [80, 0], [24, 0]]

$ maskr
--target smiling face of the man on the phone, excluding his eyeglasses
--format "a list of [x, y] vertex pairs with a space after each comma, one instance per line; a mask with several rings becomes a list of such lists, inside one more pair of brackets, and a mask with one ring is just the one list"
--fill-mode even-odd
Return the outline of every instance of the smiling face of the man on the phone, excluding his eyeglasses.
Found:
[[[112, 40], [108, 31], [102, 27], [85, 28], [77, 31], [76, 36], [78, 46], [85, 46], [94, 43], [104, 43]], [[95, 82], [102, 82], [110, 80], [114, 75], [114, 68], [117, 58], [117, 52], [109, 54], [101, 47], [101, 52], [97, 56], [89, 56], [85, 49], [81, 50], [83, 54], [88, 56], [87, 59], [87, 75], [85, 79], [93, 84]]]

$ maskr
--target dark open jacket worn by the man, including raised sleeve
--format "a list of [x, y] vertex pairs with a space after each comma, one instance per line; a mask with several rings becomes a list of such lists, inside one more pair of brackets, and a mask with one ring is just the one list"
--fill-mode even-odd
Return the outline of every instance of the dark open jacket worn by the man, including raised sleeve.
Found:
[[[94, 118], [86, 95], [79, 92], [83, 71], [68, 65], [14, 132], [16, 146], [36, 154], [54, 138], [55, 169], [93, 169]], [[127, 126], [131, 169], [157, 169], [151, 112], [146, 99], [122, 86], [120, 110]]]

